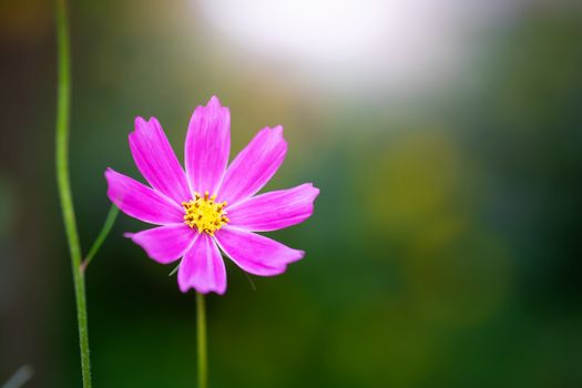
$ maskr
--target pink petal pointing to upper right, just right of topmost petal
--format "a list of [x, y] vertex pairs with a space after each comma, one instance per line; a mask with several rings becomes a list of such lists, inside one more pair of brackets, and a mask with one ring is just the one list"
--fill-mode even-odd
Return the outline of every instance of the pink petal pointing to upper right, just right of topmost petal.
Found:
[[259, 131], [228, 166], [218, 191], [219, 201], [234, 205], [255, 194], [277, 172], [286, 153], [282, 126]]

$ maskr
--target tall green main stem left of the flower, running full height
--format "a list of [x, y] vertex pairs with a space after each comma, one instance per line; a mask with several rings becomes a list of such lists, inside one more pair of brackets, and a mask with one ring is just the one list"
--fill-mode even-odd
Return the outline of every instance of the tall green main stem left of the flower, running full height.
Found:
[[86, 329], [85, 280], [81, 270], [81, 244], [76, 232], [71, 183], [69, 180], [69, 111], [71, 105], [71, 54], [69, 43], [69, 20], [65, 0], [57, 0], [57, 181], [67, 241], [71, 254], [74, 294], [76, 300], [76, 323], [81, 347], [81, 372], [83, 387], [91, 388], [91, 363], [89, 359], [89, 337]]

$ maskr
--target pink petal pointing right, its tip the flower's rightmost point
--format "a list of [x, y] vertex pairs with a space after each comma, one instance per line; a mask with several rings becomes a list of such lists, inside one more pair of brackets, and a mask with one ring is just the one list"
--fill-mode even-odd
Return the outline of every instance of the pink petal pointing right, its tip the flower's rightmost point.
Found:
[[231, 226], [254, 232], [276, 231], [305, 221], [319, 194], [310, 183], [261, 194], [227, 207]]

